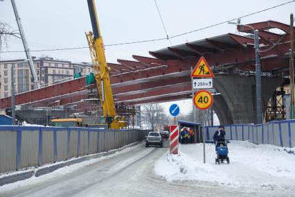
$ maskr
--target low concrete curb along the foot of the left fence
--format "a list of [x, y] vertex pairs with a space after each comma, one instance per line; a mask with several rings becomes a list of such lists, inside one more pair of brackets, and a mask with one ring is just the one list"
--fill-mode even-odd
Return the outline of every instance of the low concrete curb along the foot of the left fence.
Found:
[[[141, 142], [143, 142], [143, 141], [141, 141]], [[35, 171], [26, 171], [24, 173], [17, 173], [17, 174], [14, 174], [14, 175], [7, 175], [7, 176], [4, 176], [4, 177], [0, 178], [0, 186], [10, 184], [10, 183], [13, 183], [13, 182], [17, 182], [19, 180], [26, 180], [26, 179], [31, 178], [33, 176], [39, 177], [40, 175], [45, 175], [47, 173], [51, 173], [51, 172], [53, 172], [53, 171], [55, 171], [57, 169], [60, 169], [60, 168], [62, 168], [64, 166], [71, 166], [73, 164], [78, 164], [80, 162], [84, 162], [84, 161], [87, 161], [87, 160], [92, 160], [92, 159], [104, 157], [104, 156], [107, 156], [107, 155], [113, 155], [114, 153], [123, 151], [125, 148], [136, 146], [137, 144], [140, 144], [141, 142], [134, 142], [132, 144], [128, 144], [128, 145], [125, 145], [125, 146], [123, 146], [121, 148], [110, 150], [110, 151], [107, 151], [107, 152], [104, 152], [104, 153], [96, 153], [96, 154], [93, 154], [93, 155], [85, 155], [85, 156], [82, 156], [82, 157], [78, 157], [77, 159], [68, 161], [68, 162], [55, 164], [53, 166], [44, 167], [42, 169], [37, 169]]]

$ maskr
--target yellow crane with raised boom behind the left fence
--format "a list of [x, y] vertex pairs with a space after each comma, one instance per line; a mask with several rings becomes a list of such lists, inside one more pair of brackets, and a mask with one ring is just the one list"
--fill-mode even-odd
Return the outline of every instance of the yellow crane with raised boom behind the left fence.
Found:
[[93, 71], [96, 78], [98, 94], [102, 105], [103, 118], [100, 123], [105, 123], [108, 128], [119, 129], [127, 126], [123, 117], [116, 114], [113, 93], [111, 91], [111, 81], [109, 79], [110, 67], [107, 67], [105, 59], [105, 48], [100, 34], [98, 17], [94, 0], [87, 0], [89, 14], [91, 18], [92, 32], [85, 33], [89, 44]]

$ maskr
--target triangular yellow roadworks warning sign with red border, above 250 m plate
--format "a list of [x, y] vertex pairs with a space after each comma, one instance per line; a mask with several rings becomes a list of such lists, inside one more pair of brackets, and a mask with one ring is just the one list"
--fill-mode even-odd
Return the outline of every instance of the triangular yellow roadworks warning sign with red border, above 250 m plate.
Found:
[[199, 59], [199, 62], [197, 62], [197, 65], [193, 70], [192, 74], [190, 74], [190, 76], [201, 78], [214, 78], [214, 74], [203, 56]]

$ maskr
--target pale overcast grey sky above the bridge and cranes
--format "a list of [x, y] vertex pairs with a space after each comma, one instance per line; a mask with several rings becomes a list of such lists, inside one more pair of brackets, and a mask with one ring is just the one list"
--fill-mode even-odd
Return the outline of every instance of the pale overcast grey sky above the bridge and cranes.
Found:
[[[86, 0], [15, 0], [30, 49], [55, 49], [87, 46], [84, 32], [91, 30]], [[287, 0], [286, 0], [287, 1]], [[184, 33], [250, 12], [286, 2], [279, 0], [248, 1], [198, 1], [157, 0], [169, 35]], [[100, 0], [96, 1], [100, 30], [105, 44], [150, 40], [165, 37], [161, 20], [153, 0]], [[242, 19], [242, 23], [261, 22], [268, 19], [289, 24], [289, 13], [295, 3]], [[10, 0], [0, 1], [0, 21], [17, 29]], [[206, 37], [235, 33], [235, 26], [223, 24], [204, 31], [172, 39], [173, 45], [201, 40]], [[9, 51], [23, 50], [21, 40], [12, 38]], [[143, 44], [106, 47], [108, 62], [117, 58], [132, 60], [132, 54], [149, 55], [168, 46], [167, 40]], [[6, 49], [3, 49], [6, 51]], [[24, 58], [24, 53], [1, 53], [0, 58]], [[50, 55], [54, 58], [77, 62], [90, 62], [88, 49], [53, 52], [33, 52], [32, 55]]]

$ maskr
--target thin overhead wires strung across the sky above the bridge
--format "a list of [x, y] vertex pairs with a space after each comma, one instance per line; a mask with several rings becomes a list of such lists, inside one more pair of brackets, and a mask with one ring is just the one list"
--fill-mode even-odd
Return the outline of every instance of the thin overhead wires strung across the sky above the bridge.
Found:
[[[289, 3], [293, 3], [295, 2], [295, 0], [292, 0], [292, 1], [287, 1], [285, 3], [280, 3], [279, 5], [277, 6], [272, 6], [270, 8], [265, 8], [263, 10], [259, 10], [257, 12], [251, 12], [247, 15], [243, 15], [241, 17], [235, 17], [234, 19], [229, 19], [225, 22], [220, 22], [220, 23], [217, 23], [217, 24], [213, 24], [213, 25], [210, 25], [210, 26], [206, 26], [206, 27], [203, 27], [203, 28], [198, 28], [198, 29], [195, 29], [193, 31], [188, 31], [186, 33], [180, 33], [180, 34], [177, 34], [177, 35], [172, 35], [171, 37], [168, 37], [168, 33], [166, 31], [166, 28], [163, 24], [163, 19], [161, 17], [161, 14], [159, 13], [160, 17], [161, 17], [161, 21], [162, 21], [162, 24], [163, 24], [163, 27], [165, 29], [165, 32], [166, 32], [166, 37], [161, 37], [161, 38], [157, 38], [157, 39], [151, 39], [151, 40], [140, 40], [140, 41], [134, 41], [134, 42], [122, 42], [122, 43], [116, 43], [116, 44], [105, 44], [105, 46], [119, 46], [119, 45], [126, 45], [126, 44], [138, 44], [138, 43], [144, 43], [144, 42], [157, 42], [157, 41], [161, 41], [161, 40], [169, 40], [169, 39], [172, 39], [172, 38], [175, 38], [175, 37], [180, 37], [180, 36], [183, 36], [183, 35], [188, 35], [190, 33], [195, 33], [197, 31], [202, 31], [204, 29], [207, 29], [207, 28], [212, 28], [212, 27], [215, 27], [215, 26], [219, 26], [221, 24], [227, 24], [228, 22], [231, 22], [231, 21], [235, 21], [237, 19], [242, 19], [242, 18], [245, 18], [245, 17], [249, 17], [249, 16], [252, 16], [252, 15], [256, 15], [260, 12], [265, 12], [267, 10], [271, 10], [271, 9], [274, 9], [274, 8], [278, 8], [280, 6], [285, 6]], [[155, 1], [156, 5], [157, 5], [157, 2]], [[157, 6], [157, 9], [158, 9], [158, 12], [159, 12], [159, 8]], [[42, 52], [42, 51], [65, 51], [65, 50], [75, 50], [75, 49], [88, 49], [89, 46], [81, 46], [81, 47], [71, 47], [71, 48], [62, 48], [62, 49], [41, 49], [41, 50], [30, 50], [32, 52]], [[24, 51], [0, 51], [0, 53], [23, 53]]]

